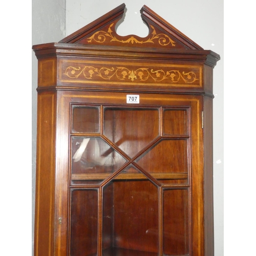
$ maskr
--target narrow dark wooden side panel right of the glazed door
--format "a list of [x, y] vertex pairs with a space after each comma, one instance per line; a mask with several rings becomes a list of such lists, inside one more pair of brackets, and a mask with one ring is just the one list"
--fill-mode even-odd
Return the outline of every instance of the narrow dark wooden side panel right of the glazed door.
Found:
[[212, 98], [204, 98], [204, 231], [205, 255], [214, 256]]

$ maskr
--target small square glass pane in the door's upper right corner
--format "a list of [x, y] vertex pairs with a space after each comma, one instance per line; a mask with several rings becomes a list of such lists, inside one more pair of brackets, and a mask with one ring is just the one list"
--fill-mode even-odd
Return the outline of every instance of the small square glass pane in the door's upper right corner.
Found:
[[163, 111], [164, 135], [188, 135], [188, 111], [167, 110]]

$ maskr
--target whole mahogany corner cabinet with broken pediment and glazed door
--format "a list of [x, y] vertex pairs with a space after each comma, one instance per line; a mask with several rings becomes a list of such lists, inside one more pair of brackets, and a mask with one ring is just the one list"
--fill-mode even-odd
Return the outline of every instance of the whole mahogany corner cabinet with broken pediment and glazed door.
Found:
[[35, 256], [214, 255], [212, 70], [143, 6], [122, 4], [38, 59]]

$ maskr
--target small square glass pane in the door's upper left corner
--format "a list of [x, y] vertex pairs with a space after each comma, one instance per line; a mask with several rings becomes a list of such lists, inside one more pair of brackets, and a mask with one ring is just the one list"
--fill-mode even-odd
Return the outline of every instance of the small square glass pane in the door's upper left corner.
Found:
[[99, 107], [73, 106], [72, 133], [99, 133]]

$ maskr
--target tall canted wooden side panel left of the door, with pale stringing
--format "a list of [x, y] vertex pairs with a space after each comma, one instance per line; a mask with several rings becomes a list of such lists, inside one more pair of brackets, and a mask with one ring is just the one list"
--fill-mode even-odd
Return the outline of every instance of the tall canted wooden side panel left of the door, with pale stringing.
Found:
[[53, 255], [55, 105], [54, 93], [38, 94], [35, 256]]

